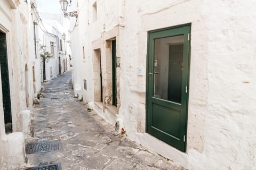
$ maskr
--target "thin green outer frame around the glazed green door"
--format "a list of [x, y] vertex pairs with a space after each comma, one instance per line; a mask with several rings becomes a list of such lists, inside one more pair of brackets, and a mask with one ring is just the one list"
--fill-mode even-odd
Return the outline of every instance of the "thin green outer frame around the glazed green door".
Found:
[[[147, 36], [147, 67], [146, 67], [146, 133], [148, 133], [148, 122], [149, 122], [149, 109], [148, 109], [148, 106], [149, 106], [149, 76], [148, 76], [148, 73], [149, 73], [149, 67], [150, 67], [150, 58], [149, 58], [149, 52], [150, 52], [150, 34], [151, 33], [156, 33], [156, 32], [160, 32], [160, 31], [165, 31], [165, 30], [170, 30], [170, 29], [175, 29], [175, 28], [182, 28], [182, 27], [186, 27], [188, 26], [189, 27], [189, 34], [187, 35], [187, 38], [188, 38], [188, 67], [187, 67], [187, 89], [189, 89], [189, 78], [190, 78], [190, 50], [191, 50], [191, 38], [190, 38], [190, 34], [191, 34], [191, 23], [186, 23], [186, 24], [181, 24], [181, 25], [175, 25], [173, 27], [167, 27], [167, 28], [162, 28], [162, 29], [156, 29], [156, 30], [151, 30], [151, 31], [148, 31], [148, 36]], [[185, 35], [184, 35], [185, 36]], [[186, 36], [185, 36], [186, 37]], [[161, 38], [164, 38], [164, 37], [161, 37]], [[153, 45], [154, 45], [154, 42], [151, 42]], [[154, 46], [153, 46], [154, 47]], [[185, 114], [186, 114], [186, 124], [185, 124], [185, 146], [183, 149], [179, 149], [180, 151], [182, 152], [186, 152], [186, 149], [187, 149], [187, 128], [188, 128], [188, 101], [189, 101], [189, 90], [187, 92], [187, 99], [186, 99], [186, 111], [185, 111]], [[149, 134], [149, 133], [148, 133]], [[150, 134], [151, 135], [151, 134]], [[153, 136], [154, 137], [154, 136]], [[154, 137], [156, 138], [156, 137]], [[161, 140], [161, 139], [159, 139]], [[166, 142], [165, 142], [166, 143]], [[168, 143], [167, 143], [168, 144]], [[168, 144], [169, 145], [169, 144]], [[171, 145], [170, 145], [171, 146]], [[173, 147], [173, 146], [171, 146]], [[177, 148], [178, 149], [178, 148]]]

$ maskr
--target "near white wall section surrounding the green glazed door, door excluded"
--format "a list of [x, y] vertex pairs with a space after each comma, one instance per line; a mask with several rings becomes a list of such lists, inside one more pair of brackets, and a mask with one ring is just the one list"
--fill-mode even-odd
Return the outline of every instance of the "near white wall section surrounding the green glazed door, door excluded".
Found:
[[[126, 1], [125, 6], [125, 27], [120, 33], [124, 42], [121, 96], [131, 95], [121, 99], [119, 113], [129, 120], [125, 121], [128, 136], [189, 169], [254, 169], [251, 26], [256, 23], [251, 18], [256, 14], [255, 3]], [[145, 118], [145, 98], [140, 100], [136, 91], [145, 91], [146, 77], [133, 76], [137, 67], [146, 70], [147, 31], [184, 23], [191, 23], [186, 154], [138, 133]], [[243, 46], [246, 42], [252, 44]]]

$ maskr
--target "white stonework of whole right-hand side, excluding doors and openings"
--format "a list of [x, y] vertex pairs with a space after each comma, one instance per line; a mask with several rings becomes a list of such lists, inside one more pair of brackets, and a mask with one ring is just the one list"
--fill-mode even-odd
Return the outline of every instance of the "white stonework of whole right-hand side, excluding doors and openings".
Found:
[[[78, 1], [78, 6], [74, 1], [72, 10], [79, 14], [71, 32], [76, 95], [108, 120], [103, 108], [109, 105], [103, 101], [100, 109], [95, 96], [99, 82], [94, 59], [100, 49], [102, 74], [106, 74], [103, 85], [108, 88], [111, 68], [106, 40], [115, 37], [121, 67], [113, 115], [123, 120], [130, 139], [192, 170], [256, 169], [255, 1], [99, 0]], [[183, 153], [145, 133], [146, 56], [148, 31], [186, 23], [191, 23], [191, 51], [187, 151]]]

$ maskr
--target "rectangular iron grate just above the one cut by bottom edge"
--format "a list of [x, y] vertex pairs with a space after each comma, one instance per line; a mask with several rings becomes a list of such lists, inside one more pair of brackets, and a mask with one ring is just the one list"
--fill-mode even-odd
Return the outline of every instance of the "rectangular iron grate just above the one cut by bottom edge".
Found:
[[61, 149], [61, 142], [59, 140], [29, 143], [26, 146], [26, 154], [36, 154], [59, 149]]

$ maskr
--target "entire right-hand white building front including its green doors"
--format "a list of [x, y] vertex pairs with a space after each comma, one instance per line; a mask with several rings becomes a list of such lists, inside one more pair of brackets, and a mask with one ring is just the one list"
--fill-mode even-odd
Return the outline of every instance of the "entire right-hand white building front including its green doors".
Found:
[[255, 6], [72, 1], [75, 94], [188, 169], [255, 169]]

